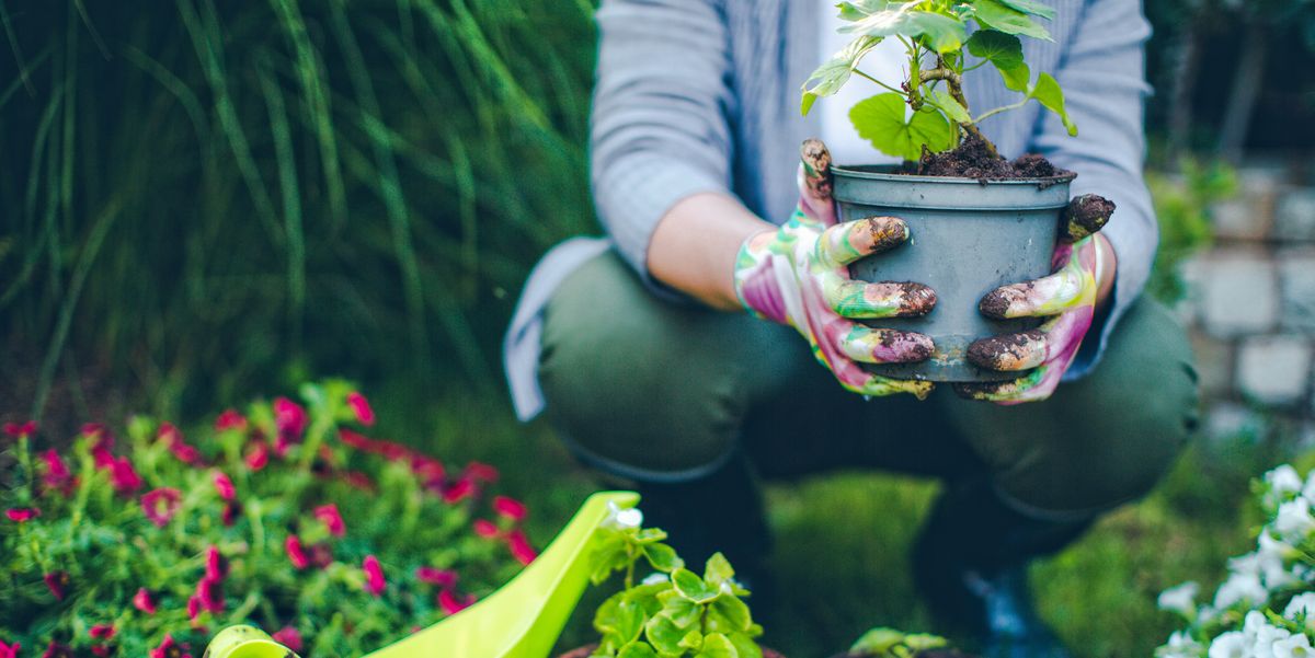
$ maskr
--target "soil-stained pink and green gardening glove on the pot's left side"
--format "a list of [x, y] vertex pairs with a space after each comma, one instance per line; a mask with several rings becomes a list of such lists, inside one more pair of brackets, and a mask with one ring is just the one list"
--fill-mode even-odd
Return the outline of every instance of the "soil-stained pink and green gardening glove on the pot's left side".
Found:
[[872, 374], [859, 364], [922, 361], [931, 356], [931, 339], [852, 322], [923, 315], [935, 306], [936, 293], [922, 284], [849, 278], [849, 263], [903, 243], [909, 227], [894, 217], [836, 223], [831, 154], [822, 142], [809, 139], [800, 155], [800, 204], [790, 221], [750, 236], [740, 247], [735, 261], [740, 303], [759, 318], [798, 330], [813, 356], [846, 389], [863, 395], [913, 393], [924, 398], [931, 382]]

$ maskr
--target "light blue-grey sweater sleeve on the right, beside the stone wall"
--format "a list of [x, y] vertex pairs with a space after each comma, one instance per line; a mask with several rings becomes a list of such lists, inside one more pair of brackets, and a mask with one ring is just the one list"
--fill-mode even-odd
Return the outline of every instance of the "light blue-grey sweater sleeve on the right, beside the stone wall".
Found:
[[1160, 239], [1141, 175], [1143, 104], [1151, 92], [1144, 45], [1149, 35], [1151, 25], [1137, 0], [1088, 1], [1055, 74], [1078, 137], [1068, 137], [1059, 118], [1044, 112], [1034, 138], [1039, 152], [1078, 173], [1073, 196], [1101, 194], [1118, 206], [1102, 231], [1118, 257], [1112, 301], [1088, 334], [1068, 380], [1086, 374], [1099, 361], [1114, 327], [1145, 286]]

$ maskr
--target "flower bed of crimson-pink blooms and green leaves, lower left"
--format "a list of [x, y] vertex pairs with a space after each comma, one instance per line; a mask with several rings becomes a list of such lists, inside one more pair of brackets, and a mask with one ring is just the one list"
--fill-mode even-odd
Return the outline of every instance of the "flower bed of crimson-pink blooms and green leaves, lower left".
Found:
[[[373, 439], [329, 381], [187, 436], [88, 424], [71, 450], [0, 439], [0, 658], [200, 655], [251, 623], [302, 655], [360, 655], [469, 605], [535, 557], [497, 470]], [[7, 458], [8, 457], [8, 458]]]

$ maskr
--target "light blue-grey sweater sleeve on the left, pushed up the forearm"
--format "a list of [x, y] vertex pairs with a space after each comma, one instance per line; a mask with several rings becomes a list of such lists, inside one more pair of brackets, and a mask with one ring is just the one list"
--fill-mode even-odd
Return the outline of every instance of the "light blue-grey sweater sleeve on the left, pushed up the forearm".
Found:
[[729, 38], [717, 0], [604, 0], [590, 116], [598, 218], [647, 282], [658, 221], [682, 198], [729, 193]]

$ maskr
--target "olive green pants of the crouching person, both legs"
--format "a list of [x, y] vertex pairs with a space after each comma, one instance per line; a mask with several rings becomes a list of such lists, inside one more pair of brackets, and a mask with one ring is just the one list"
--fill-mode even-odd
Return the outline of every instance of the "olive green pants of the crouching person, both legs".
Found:
[[1123, 317], [1098, 366], [1045, 402], [997, 406], [842, 389], [793, 328], [651, 294], [614, 253], [547, 309], [539, 378], [585, 462], [679, 482], [750, 457], [767, 478], [885, 469], [986, 477], [1020, 511], [1091, 515], [1145, 494], [1197, 419], [1186, 335], [1159, 303]]

